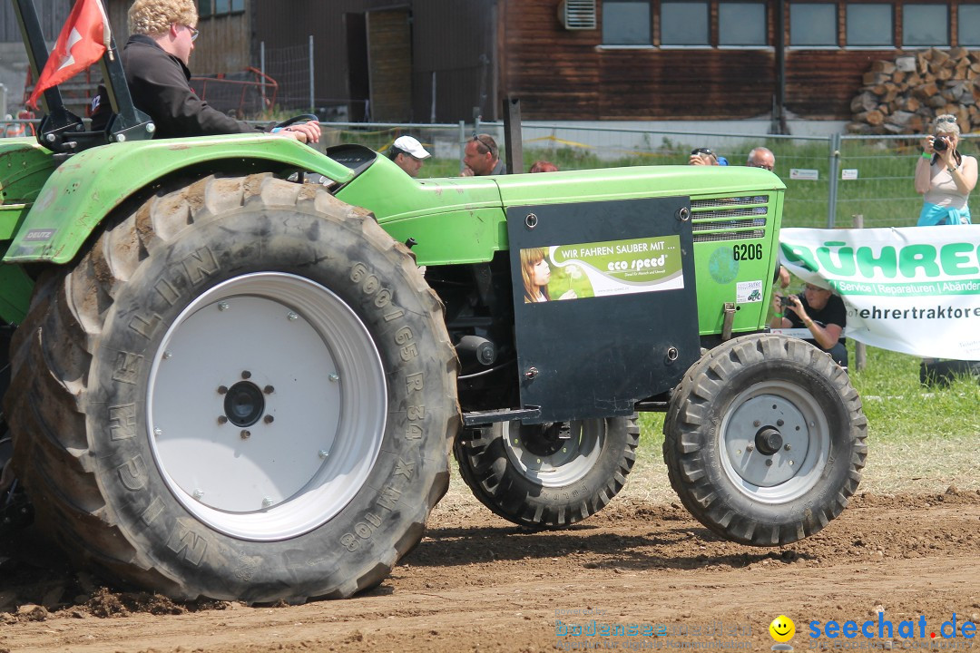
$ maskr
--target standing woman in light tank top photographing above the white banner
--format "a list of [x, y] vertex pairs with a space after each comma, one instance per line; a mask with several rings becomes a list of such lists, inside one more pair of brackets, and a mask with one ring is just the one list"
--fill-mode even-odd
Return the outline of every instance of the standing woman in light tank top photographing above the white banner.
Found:
[[977, 160], [961, 155], [956, 117], [944, 114], [933, 123], [935, 135], [922, 140], [922, 157], [915, 163], [915, 192], [921, 194], [918, 226], [970, 224], [967, 205], [977, 184]]

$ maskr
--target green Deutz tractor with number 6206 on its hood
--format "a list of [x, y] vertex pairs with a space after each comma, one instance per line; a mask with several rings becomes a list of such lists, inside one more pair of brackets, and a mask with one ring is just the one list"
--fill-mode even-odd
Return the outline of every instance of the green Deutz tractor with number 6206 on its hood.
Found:
[[793, 542], [857, 489], [847, 373], [765, 333], [770, 172], [417, 181], [356, 145], [153, 140], [103, 66], [105, 133], [55, 88], [36, 142], [0, 140], [8, 535], [33, 513], [175, 598], [347, 597], [418, 543], [451, 451], [495, 513], [560, 529], [621, 490], [644, 410], [725, 538]]

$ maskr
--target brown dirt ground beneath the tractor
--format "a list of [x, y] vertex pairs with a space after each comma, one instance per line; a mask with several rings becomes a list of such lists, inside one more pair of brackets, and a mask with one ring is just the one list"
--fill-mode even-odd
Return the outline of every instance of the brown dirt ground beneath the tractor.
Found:
[[[977, 490], [862, 494], [823, 532], [781, 549], [722, 541], [678, 504], [625, 490], [568, 531], [526, 534], [454, 484], [429, 526], [367, 594], [282, 607], [128, 594], [62, 569], [35, 542], [6, 542], [0, 653], [769, 650], [768, 625], [780, 614], [795, 621], [798, 650], [842, 641], [880, 649], [888, 637], [813, 639], [809, 624], [859, 626], [881, 609], [896, 630], [916, 624], [914, 638], [895, 631], [893, 648], [968, 650], [975, 640], [929, 634], [954, 614], [958, 633], [980, 621]], [[593, 622], [621, 634], [593, 635]], [[630, 625], [640, 626], [630, 634]], [[665, 634], [643, 634], [644, 626]], [[564, 634], [576, 627], [583, 634]]]

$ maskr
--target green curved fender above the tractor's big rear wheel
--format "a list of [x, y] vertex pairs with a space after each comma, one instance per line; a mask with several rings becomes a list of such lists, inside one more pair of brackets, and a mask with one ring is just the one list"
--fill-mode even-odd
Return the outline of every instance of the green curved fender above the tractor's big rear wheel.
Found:
[[103, 219], [127, 198], [172, 172], [192, 165], [254, 161], [257, 169], [299, 168], [338, 183], [349, 168], [293, 139], [233, 134], [113, 143], [85, 150], [48, 177], [13, 238], [5, 263], [67, 263]]

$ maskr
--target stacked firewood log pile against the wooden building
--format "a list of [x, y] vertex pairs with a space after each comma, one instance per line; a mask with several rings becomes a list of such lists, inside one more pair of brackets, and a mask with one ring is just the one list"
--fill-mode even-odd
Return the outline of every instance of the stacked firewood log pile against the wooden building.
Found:
[[963, 133], [980, 129], [980, 52], [931, 48], [881, 60], [851, 102], [853, 134], [921, 134], [953, 114]]

